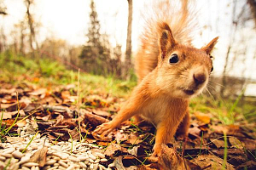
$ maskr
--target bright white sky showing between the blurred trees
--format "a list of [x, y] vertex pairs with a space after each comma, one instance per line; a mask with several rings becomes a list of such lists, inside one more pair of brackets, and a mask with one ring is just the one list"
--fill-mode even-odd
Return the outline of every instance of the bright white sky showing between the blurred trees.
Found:
[[[0, 17], [0, 26], [9, 34], [14, 30], [14, 24], [23, 20], [26, 14], [26, 7], [23, 0], [5, 0], [8, 15]], [[82, 45], [86, 42], [85, 34], [90, 21], [90, 0], [36, 0], [36, 5], [32, 8], [35, 14], [35, 20], [40, 20], [42, 27], [39, 32], [38, 41], [43, 42], [46, 37], [55, 37], [66, 40], [71, 45]], [[199, 9], [198, 32], [201, 36], [195, 37], [195, 47], [201, 48], [210, 42], [212, 38], [219, 37], [214, 50], [214, 74], [221, 75], [224, 68], [224, 59], [229, 42], [230, 29], [230, 6], [231, 0], [197, 0], [196, 6]], [[95, 0], [98, 19], [101, 22], [102, 33], [110, 36], [110, 42], [122, 44], [125, 51], [128, 3], [127, 0]], [[138, 47], [138, 37], [143, 28], [143, 19], [141, 14], [147, 0], [133, 1], [133, 21], [132, 21], [132, 49], [136, 52]], [[218, 17], [220, 16], [220, 17]], [[2, 24], [3, 23], [3, 24]], [[249, 38], [254, 32], [247, 32]], [[254, 34], [253, 34], [254, 33]], [[256, 37], [255, 37], [256, 38]], [[253, 39], [255, 42], [255, 38]], [[251, 42], [253, 44], [253, 42]], [[256, 79], [256, 73], [253, 71], [255, 59], [253, 53], [255, 48], [248, 48], [251, 54], [242, 65], [235, 65], [236, 69], [232, 75], [241, 75], [241, 69], [247, 65], [245, 77]]]

